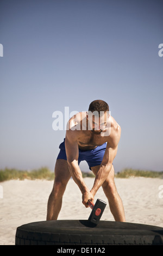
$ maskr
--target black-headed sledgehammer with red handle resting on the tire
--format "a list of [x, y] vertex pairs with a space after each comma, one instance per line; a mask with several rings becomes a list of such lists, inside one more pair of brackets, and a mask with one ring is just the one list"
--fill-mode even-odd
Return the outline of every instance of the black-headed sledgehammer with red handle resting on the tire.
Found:
[[106, 203], [101, 199], [97, 199], [95, 205], [90, 200], [87, 202], [87, 204], [92, 209], [88, 221], [97, 225], [106, 207]]

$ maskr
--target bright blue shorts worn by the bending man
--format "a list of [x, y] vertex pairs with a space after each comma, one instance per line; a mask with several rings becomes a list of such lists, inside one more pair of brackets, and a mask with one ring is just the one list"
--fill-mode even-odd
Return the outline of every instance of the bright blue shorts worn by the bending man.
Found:
[[[81, 161], [85, 160], [87, 162], [87, 164], [89, 165], [90, 170], [91, 170], [91, 167], [93, 167], [93, 166], [99, 166], [103, 160], [106, 145], [107, 145], [107, 143], [104, 143], [103, 145], [97, 146], [95, 149], [91, 149], [91, 150], [79, 149], [78, 164]], [[60, 148], [60, 152], [59, 152], [57, 159], [67, 160], [66, 150], [65, 150], [65, 139], [64, 139], [64, 142], [62, 142], [59, 145], [59, 148]]]

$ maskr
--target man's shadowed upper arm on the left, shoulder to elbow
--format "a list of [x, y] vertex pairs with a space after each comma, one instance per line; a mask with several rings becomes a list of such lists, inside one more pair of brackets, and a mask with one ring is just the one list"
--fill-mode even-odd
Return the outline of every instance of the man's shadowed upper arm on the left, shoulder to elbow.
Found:
[[71, 133], [72, 131], [67, 131], [65, 137], [65, 149], [68, 162], [78, 160], [79, 157], [78, 142]]

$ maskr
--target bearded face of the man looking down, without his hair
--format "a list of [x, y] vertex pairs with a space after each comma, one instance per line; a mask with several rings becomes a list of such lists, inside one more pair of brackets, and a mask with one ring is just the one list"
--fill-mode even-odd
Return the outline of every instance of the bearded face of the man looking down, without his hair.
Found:
[[100, 114], [100, 116], [97, 115], [92, 115], [90, 114], [87, 115], [88, 121], [89, 121], [89, 127], [90, 130], [94, 134], [100, 134], [102, 131], [105, 130], [107, 121], [109, 118], [109, 114], [107, 112], [104, 112], [103, 114]]

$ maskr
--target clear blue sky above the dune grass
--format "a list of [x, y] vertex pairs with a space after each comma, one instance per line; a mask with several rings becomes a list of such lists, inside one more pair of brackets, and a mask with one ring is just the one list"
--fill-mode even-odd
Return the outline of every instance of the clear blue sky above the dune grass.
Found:
[[122, 127], [115, 170], [163, 170], [162, 9], [161, 0], [1, 0], [0, 168], [53, 170], [65, 137], [53, 112], [102, 99]]

